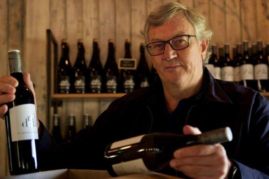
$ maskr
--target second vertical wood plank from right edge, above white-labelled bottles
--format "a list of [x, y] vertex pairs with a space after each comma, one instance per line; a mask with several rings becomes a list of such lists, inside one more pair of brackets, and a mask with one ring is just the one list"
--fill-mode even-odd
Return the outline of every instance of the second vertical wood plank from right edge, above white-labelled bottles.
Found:
[[256, 42], [256, 1], [242, 2], [242, 40], [248, 40], [248, 45]]

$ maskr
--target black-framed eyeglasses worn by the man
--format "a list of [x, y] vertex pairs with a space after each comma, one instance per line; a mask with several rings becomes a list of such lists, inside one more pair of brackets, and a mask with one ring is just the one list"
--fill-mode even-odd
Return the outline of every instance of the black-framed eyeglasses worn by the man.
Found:
[[152, 42], [146, 45], [146, 48], [150, 55], [163, 54], [166, 44], [169, 44], [174, 50], [181, 50], [190, 45], [191, 37], [196, 37], [196, 35], [179, 35], [167, 41]]

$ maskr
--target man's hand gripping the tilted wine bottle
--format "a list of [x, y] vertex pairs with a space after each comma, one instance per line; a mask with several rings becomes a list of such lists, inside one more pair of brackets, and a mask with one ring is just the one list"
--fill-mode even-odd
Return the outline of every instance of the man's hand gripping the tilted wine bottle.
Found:
[[[201, 134], [201, 131], [186, 125], [183, 133]], [[221, 144], [194, 145], [176, 150], [170, 166], [193, 179], [227, 179], [231, 162]]]

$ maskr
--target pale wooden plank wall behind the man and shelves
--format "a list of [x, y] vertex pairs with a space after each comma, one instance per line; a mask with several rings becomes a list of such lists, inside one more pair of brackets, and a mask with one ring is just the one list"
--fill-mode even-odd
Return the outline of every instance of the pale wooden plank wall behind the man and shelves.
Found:
[[[23, 69], [31, 74], [37, 93], [37, 115], [46, 119], [46, 29], [51, 29], [58, 44], [66, 38], [70, 44], [71, 64], [76, 59], [76, 42], [84, 40], [86, 64], [92, 55], [92, 40], [98, 38], [103, 66], [107, 58], [108, 39], [113, 39], [116, 59], [124, 56], [125, 39], [132, 42], [132, 57], [139, 59], [139, 44], [144, 42], [139, 31], [149, 12], [166, 2], [181, 2], [197, 9], [213, 30], [212, 43], [232, 47], [243, 40], [249, 45], [262, 40], [269, 43], [269, 0], [2, 0], [0, 1], [0, 75], [9, 74], [7, 51], [20, 49]], [[59, 54], [61, 46], [59, 45]], [[232, 55], [231, 55], [232, 56]], [[147, 56], [149, 67], [149, 56]], [[107, 99], [65, 99], [58, 108], [62, 133], [65, 135], [69, 113], [77, 117], [77, 130], [82, 115], [93, 121], [110, 104]], [[5, 143], [4, 121], [0, 120], [0, 141]], [[0, 176], [8, 175], [6, 146], [0, 145]]]

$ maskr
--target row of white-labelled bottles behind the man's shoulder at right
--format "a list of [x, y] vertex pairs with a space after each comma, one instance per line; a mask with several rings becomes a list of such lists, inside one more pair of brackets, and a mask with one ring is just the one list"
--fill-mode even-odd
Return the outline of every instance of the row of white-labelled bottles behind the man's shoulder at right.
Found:
[[229, 52], [229, 44], [225, 44], [224, 48], [212, 45], [212, 51], [206, 67], [214, 78], [236, 82], [260, 92], [269, 91], [269, 44], [263, 47], [262, 41], [257, 41], [249, 47], [248, 41], [243, 41], [233, 48], [233, 58]]

